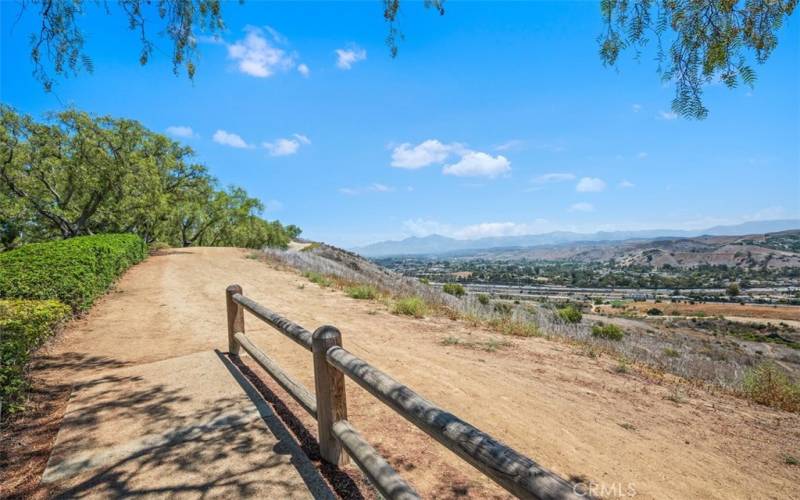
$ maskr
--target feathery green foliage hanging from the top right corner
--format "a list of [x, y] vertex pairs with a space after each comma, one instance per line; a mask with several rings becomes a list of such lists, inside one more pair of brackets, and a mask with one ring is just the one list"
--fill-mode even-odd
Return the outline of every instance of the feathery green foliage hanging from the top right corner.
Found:
[[658, 72], [675, 84], [672, 109], [688, 118], [705, 118], [703, 88], [720, 81], [729, 88], [752, 86], [758, 63], [778, 45], [777, 31], [797, 0], [601, 0], [605, 24], [600, 57], [616, 63], [628, 48], [637, 56], [654, 37]]

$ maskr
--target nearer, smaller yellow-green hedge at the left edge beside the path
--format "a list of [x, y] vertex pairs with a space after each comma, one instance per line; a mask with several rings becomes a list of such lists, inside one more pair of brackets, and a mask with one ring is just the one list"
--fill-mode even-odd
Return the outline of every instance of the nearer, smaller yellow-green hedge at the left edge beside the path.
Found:
[[0, 405], [7, 414], [22, 409], [31, 353], [70, 314], [57, 300], [0, 300]]

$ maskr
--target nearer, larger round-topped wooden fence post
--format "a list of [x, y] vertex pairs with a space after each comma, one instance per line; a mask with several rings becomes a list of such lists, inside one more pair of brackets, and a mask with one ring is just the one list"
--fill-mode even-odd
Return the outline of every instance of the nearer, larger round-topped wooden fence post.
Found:
[[333, 433], [333, 424], [347, 419], [347, 396], [344, 390], [344, 374], [328, 363], [326, 353], [331, 347], [341, 345], [342, 334], [333, 326], [321, 326], [311, 337], [319, 451], [323, 460], [334, 465], [348, 462], [347, 454], [342, 453], [342, 445]]

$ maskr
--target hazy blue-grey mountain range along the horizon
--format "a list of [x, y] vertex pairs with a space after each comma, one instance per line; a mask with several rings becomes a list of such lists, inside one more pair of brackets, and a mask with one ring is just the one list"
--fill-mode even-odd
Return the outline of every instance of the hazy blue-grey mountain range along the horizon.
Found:
[[502, 236], [458, 240], [434, 234], [425, 237], [410, 237], [400, 241], [382, 241], [353, 248], [366, 257], [389, 257], [400, 255], [442, 255], [471, 253], [488, 249], [520, 249], [543, 245], [561, 245], [578, 242], [621, 242], [626, 240], [654, 240], [658, 238], [695, 238], [698, 236], [736, 236], [775, 233], [800, 229], [800, 219], [752, 221], [732, 226], [715, 226], [698, 231], [682, 229], [652, 229], [643, 231], [599, 231], [596, 233], [574, 233], [555, 231], [524, 236]]

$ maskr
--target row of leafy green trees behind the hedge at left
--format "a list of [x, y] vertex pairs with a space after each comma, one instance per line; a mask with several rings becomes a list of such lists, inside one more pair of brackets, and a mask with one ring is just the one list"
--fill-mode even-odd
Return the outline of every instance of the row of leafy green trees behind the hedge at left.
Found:
[[193, 151], [136, 121], [68, 109], [38, 122], [0, 107], [0, 248], [97, 233], [173, 246], [286, 246], [296, 226], [220, 189]]

